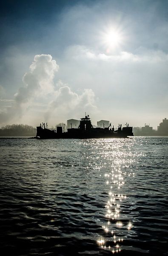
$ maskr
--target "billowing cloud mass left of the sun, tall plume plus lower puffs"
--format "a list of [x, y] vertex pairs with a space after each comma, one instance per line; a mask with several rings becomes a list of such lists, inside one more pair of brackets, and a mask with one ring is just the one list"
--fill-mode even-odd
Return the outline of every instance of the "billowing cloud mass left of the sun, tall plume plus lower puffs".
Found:
[[73, 112], [77, 115], [84, 111], [97, 111], [93, 90], [84, 89], [81, 94], [77, 94], [61, 80], [54, 85], [58, 69], [51, 55], [35, 55], [29, 71], [23, 76], [23, 86], [14, 94], [11, 107], [1, 109], [1, 125], [26, 121], [30, 124], [31, 121], [42, 122], [43, 119], [54, 125], [61, 118], [67, 119]]

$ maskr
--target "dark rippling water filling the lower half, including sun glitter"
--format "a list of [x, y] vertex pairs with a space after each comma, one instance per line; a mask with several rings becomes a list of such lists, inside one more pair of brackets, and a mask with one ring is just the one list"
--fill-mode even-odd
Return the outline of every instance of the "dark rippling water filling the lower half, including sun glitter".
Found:
[[0, 139], [3, 255], [167, 255], [168, 137]]

